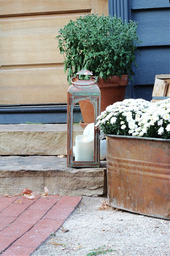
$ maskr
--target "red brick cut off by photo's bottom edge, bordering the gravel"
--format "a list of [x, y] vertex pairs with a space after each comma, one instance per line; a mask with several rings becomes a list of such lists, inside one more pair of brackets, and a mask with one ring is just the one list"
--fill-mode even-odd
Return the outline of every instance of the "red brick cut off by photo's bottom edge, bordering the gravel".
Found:
[[10, 246], [4, 253], [1, 255], [6, 256], [29, 256], [35, 251], [35, 247], [24, 247], [24, 246]]

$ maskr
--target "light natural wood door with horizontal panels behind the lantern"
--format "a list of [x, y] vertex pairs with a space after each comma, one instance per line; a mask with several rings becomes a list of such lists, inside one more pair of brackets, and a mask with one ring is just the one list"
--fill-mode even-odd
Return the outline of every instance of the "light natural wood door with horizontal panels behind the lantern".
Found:
[[0, 1], [0, 105], [67, 102], [55, 37], [84, 13], [108, 15], [108, 0]]

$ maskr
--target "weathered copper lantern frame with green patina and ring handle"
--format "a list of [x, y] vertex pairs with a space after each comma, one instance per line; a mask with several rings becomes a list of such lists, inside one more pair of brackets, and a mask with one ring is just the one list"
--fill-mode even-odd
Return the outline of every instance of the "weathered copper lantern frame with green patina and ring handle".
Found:
[[[79, 75], [90, 76], [89, 80], [79, 79]], [[92, 73], [86, 69], [76, 73], [76, 77], [71, 78], [71, 86], [67, 93], [67, 166], [68, 167], [99, 167], [100, 165], [100, 131], [94, 128], [94, 158], [92, 160], [76, 161], [73, 156], [73, 108], [80, 101], [88, 101], [94, 108], [94, 125], [97, 123], [97, 116], [100, 115], [101, 93], [97, 86], [97, 79], [92, 77]], [[94, 126], [95, 127], [95, 126]], [[82, 154], [86, 148], [81, 149]]]

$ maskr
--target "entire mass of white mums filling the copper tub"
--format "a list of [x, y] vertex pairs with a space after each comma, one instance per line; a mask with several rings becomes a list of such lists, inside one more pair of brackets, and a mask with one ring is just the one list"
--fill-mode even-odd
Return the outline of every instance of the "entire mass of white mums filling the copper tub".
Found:
[[108, 106], [97, 117], [105, 134], [170, 139], [170, 99], [150, 103], [128, 99]]

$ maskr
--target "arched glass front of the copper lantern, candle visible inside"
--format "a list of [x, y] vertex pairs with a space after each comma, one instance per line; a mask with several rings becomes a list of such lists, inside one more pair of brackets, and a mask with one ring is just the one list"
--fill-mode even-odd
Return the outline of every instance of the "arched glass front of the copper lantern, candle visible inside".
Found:
[[[94, 148], [95, 148], [95, 110], [93, 104], [89, 100], [81, 100], [76, 102], [73, 107], [73, 121], [76, 120], [76, 115], [78, 114], [77, 106], [80, 105], [81, 109], [85, 109], [84, 113], [86, 117], [92, 118], [92, 124], [89, 125], [85, 130], [77, 123], [72, 125], [72, 161], [73, 162], [94, 162]], [[80, 121], [80, 120], [79, 120]], [[82, 120], [83, 121], [83, 120]], [[78, 127], [79, 126], [79, 127]]]

